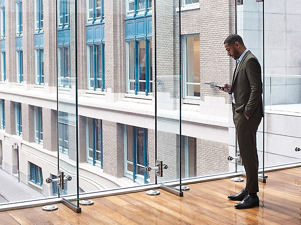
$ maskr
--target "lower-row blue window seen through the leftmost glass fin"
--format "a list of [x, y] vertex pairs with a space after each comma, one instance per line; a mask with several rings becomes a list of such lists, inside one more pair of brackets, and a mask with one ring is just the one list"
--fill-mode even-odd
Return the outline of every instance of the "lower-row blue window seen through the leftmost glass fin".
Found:
[[58, 145], [59, 151], [68, 155], [69, 152], [69, 120], [71, 115], [59, 111], [58, 114]]

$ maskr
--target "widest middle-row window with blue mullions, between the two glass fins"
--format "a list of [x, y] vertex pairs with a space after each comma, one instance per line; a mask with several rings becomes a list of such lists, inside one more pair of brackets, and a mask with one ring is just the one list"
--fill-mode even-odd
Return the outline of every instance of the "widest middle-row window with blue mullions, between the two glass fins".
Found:
[[127, 92], [153, 92], [152, 41], [127, 42]]

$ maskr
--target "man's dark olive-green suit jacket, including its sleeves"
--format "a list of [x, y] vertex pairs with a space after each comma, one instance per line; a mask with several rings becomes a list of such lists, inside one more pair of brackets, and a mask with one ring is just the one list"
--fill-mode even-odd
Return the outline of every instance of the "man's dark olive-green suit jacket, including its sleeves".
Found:
[[232, 92], [235, 99], [233, 110], [236, 113], [263, 117], [261, 67], [250, 51], [246, 52], [234, 72], [229, 94]]

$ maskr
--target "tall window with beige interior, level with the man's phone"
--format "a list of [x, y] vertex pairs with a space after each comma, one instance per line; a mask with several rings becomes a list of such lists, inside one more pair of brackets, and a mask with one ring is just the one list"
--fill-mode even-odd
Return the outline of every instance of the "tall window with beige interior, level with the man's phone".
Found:
[[184, 37], [184, 91], [186, 98], [200, 96], [200, 37]]

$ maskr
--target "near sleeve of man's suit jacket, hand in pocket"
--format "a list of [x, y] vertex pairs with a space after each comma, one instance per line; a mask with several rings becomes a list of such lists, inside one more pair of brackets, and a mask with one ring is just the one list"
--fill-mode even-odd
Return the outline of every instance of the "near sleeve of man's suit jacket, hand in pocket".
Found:
[[261, 67], [256, 58], [248, 59], [246, 62], [246, 72], [250, 82], [251, 94], [244, 114], [250, 117], [256, 110], [262, 95]]

